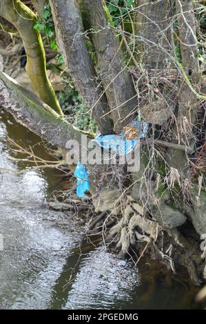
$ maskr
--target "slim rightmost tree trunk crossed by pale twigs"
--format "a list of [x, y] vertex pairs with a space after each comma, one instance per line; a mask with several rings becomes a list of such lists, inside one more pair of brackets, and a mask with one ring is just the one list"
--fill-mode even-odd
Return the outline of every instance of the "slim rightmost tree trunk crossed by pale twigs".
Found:
[[[176, 0], [178, 14], [178, 40], [180, 42], [182, 66], [192, 87], [201, 79], [198, 62], [198, 42], [196, 39], [196, 23], [193, 3], [187, 0]], [[188, 146], [195, 144], [194, 128], [196, 127], [198, 98], [185, 79], [179, 83], [178, 116], [174, 126], [174, 141]], [[169, 165], [178, 169], [180, 174], [187, 176], [188, 156], [184, 152], [169, 150]]]

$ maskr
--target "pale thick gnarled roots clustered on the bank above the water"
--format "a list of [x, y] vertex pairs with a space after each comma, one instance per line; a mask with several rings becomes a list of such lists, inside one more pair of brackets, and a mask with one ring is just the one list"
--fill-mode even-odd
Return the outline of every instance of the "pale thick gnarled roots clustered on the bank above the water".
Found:
[[[88, 234], [92, 232], [94, 234], [96, 231], [99, 232], [100, 228], [103, 226], [102, 220], [105, 219], [106, 214], [107, 212], [102, 212], [96, 216], [96, 219], [94, 219], [94, 221], [92, 221], [90, 224], [90, 232], [88, 232]], [[172, 272], [176, 273], [174, 261], [171, 257], [172, 245], [170, 245], [169, 249], [163, 253], [161, 250], [159, 250], [155, 243], [160, 230], [161, 228], [159, 227], [158, 223], [147, 218], [143, 207], [138, 203], [131, 202], [129, 199], [123, 216], [110, 229], [108, 236], [110, 238], [110, 242], [116, 242], [115, 248], [119, 251], [119, 258], [123, 258], [130, 254], [131, 246], [136, 246], [137, 243], [146, 242], [147, 245], [152, 244], [158, 258], [169, 261]], [[176, 233], [174, 232], [174, 237], [178, 236], [177, 234], [175, 236], [175, 234]]]

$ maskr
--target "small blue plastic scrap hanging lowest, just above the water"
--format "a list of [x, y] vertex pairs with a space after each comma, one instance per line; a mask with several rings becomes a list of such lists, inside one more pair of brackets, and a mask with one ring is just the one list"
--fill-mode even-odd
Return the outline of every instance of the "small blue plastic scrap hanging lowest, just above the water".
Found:
[[90, 181], [87, 174], [87, 168], [81, 162], [77, 163], [74, 176], [76, 176], [77, 179], [76, 194], [80, 198], [83, 198], [85, 197], [85, 192], [90, 190]]

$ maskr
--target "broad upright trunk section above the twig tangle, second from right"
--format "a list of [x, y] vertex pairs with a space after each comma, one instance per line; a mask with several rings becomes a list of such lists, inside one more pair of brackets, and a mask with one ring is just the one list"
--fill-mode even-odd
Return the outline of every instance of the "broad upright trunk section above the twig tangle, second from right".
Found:
[[137, 8], [137, 34], [141, 61], [147, 68], [160, 69], [167, 66], [167, 54], [171, 52], [171, 33], [168, 28], [172, 17], [174, 1], [139, 0]]

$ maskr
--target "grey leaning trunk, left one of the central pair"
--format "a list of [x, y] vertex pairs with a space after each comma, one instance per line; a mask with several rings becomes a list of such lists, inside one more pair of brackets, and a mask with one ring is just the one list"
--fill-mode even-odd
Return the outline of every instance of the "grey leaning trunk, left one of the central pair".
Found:
[[[102, 134], [113, 132], [107, 98], [102, 93], [87, 52], [83, 22], [74, 0], [50, 0], [59, 50], [77, 90], [90, 108]], [[104, 117], [105, 116], [105, 117]]]

